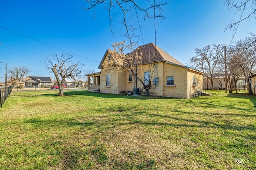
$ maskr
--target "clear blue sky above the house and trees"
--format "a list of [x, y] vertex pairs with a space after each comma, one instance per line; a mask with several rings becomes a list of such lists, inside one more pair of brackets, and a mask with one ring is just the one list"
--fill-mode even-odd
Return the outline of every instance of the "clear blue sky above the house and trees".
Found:
[[[82, 6], [82, 0], [0, 0], [0, 81], [4, 82], [5, 63], [8, 69], [27, 66], [30, 76], [54, 78], [40, 61], [51, 50], [60, 53], [59, 49], [76, 54], [74, 60], [84, 63], [84, 69], [99, 71], [104, 53], [112, 43], [124, 40], [125, 30], [119, 23], [121, 16], [114, 16], [112, 35], [103, 6], [96, 8], [96, 18]], [[225, 31], [225, 26], [239, 18], [239, 13], [224, 6], [224, 0], [170, 0], [162, 10], [167, 18], [157, 22], [156, 45], [183, 64], [195, 55], [195, 48], [229, 45], [232, 31]], [[144, 43], [154, 42], [154, 22], [140, 24]], [[241, 23], [233, 41], [255, 32], [255, 26], [254, 19]]]

